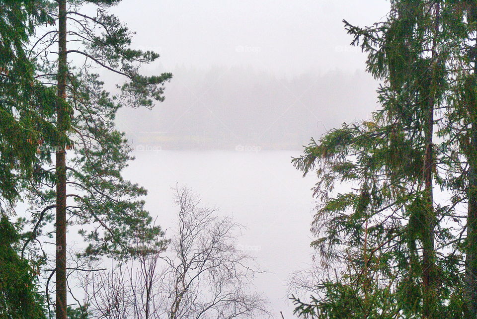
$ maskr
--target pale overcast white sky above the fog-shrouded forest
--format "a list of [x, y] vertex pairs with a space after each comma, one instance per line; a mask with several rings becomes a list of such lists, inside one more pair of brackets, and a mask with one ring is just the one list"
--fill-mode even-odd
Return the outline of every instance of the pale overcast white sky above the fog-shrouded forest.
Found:
[[289, 75], [364, 69], [342, 20], [370, 25], [386, 0], [125, 0], [114, 7], [134, 46], [157, 50], [165, 69], [177, 65], [250, 65]]

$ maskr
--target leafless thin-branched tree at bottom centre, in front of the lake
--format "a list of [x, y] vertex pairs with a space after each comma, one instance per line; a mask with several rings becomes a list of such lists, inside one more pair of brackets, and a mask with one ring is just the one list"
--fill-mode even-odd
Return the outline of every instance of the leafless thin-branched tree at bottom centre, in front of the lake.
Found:
[[215, 209], [200, 206], [198, 196], [177, 189], [177, 235], [162, 256], [166, 273], [167, 318], [257, 318], [268, 315], [263, 297], [249, 293], [257, 273], [252, 256], [237, 248], [243, 228]]

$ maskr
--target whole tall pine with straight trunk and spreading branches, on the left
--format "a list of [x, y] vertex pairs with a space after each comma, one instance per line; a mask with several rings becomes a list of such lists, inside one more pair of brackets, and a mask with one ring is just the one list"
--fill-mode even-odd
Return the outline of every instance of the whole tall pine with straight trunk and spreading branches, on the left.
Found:
[[[141, 196], [146, 190], [121, 177], [121, 171], [132, 160], [131, 149], [124, 133], [114, 128], [114, 117], [122, 105], [152, 107], [153, 100], [163, 100], [163, 83], [171, 78], [141, 76], [141, 64], [155, 61], [159, 55], [133, 50], [131, 32], [107, 7], [113, 0], [59, 0], [44, 6], [56, 16], [55, 25], [38, 36], [32, 54], [37, 57], [42, 73], [37, 77], [44, 85], [57, 89], [56, 115], [51, 119], [58, 131], [54, 143], [42, 144], [45, 157], [56, 154], [56, 164], [44, 167], [55, 171], [54, 183], [44, 188], [31, 187], [31, 200], [37, 238], [53, 219], [50, 210], [56, 209], [56, 316], [67, 313], [67, 229], [69, 225], [87, 225], [80, 234], [89, 245], [79, 256], [94, 257], [110, 254], [123, 257], [134, 250], [130, 239], [138, 234], [154, 239], [161, 234], [152, 226], [152, 218], [143, 208]], [[82, 6], [97, 6], [95, 15], [82, 13]], [[88, 12], [90, 12], [88, 10]], [[75, 46], [78, 40], [81, 45]], [[49, 50], [58, 45], [58, 59], [53, 61]], [[86, 60], [75, 67], [70, 56]], [[101, 67], [121, 75], [126, 82], [119, 86], [121, 93], [110, 95], [91, 71]], [[70, 202], [70, 200], [73, 202]], [[93, 227], [92, 227], [93, 226]], [[97, 227], [94, 227], [97, 226]], [[29, 241], [31, 242], [31, 240]], [[29, 243], [28, 242], [28, 243]], [[158, 245], [161, 242], [157, 243]], [[29, 249], [25, 245], [25, 249]], [[47, 287], [48, 291], [48, 287]], [[49, 301], [49, 300], [47, 300]]]

